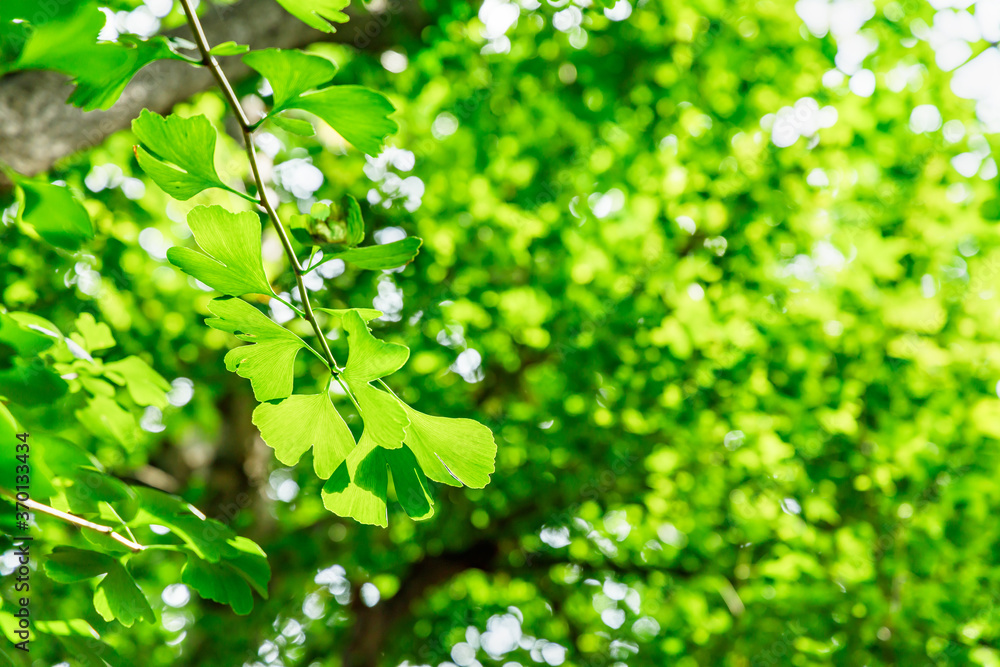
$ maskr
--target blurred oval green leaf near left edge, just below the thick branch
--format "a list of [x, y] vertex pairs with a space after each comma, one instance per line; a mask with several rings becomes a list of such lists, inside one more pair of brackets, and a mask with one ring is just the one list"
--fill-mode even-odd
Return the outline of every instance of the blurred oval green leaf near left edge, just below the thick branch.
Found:
[[69, 188], [32, 181], [18, 181], [18, 185], [24, 193], [21, 220], [34, 227], [47, 243], [75, 251], [94, 238], [90, 215]]

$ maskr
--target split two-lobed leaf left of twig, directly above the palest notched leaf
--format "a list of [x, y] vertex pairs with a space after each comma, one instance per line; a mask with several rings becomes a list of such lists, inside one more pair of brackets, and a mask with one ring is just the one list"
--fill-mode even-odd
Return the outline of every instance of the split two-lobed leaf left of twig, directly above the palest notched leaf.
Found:
[[254, 343], [230, 350], [226, 368], [249, 379], [254, 397], [260, 402], [291, 396], [295, 356], [302, 348], [310, 349], [305, 341], [241, 299], [213, 299], [208, 309], [216, 317], [205, 320], [205, 324]]

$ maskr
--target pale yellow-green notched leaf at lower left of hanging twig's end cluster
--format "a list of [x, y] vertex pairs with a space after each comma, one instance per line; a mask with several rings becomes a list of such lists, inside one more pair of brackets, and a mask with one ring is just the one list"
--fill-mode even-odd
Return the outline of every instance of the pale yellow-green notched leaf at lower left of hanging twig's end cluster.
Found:
[[261, 403], [253, 412], [253, 423], [285, 465], [295, 465], [312, 447], [313, 467], [322, 479], [334, 473], [355, 445], [351, 429], [327, 392]]

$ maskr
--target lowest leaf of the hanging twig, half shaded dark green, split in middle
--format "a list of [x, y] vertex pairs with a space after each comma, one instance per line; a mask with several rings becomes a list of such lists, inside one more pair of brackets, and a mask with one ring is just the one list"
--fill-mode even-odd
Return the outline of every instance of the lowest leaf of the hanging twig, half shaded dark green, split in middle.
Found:
[[413, 453], [406, 447], [379, 447], [367, 433], [323, 485], [323, 505], [338, 516], [385, 527], [390, 474], [396, 498], [407, 515], [418, 520], [430, 518], [434, 503]]

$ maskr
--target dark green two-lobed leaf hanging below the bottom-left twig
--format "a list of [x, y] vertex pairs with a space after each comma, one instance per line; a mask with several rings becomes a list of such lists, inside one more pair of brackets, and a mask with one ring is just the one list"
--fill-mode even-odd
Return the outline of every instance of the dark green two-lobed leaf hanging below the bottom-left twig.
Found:
[[132, 575], [111, 556], [75, 547], [56, 547], [45, 560], [45, 573], [60, 583], [83, 581], [103, 574], [94, 593], [94, 608], [104, 620], [118, 620], [126, 627], [137, 620], [156, 620], [149, 601]]

